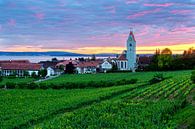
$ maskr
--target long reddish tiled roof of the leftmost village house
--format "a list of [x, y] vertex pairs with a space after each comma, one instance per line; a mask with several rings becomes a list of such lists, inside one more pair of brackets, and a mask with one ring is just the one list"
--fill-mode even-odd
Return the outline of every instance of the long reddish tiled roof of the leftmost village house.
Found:
[[4, 70], [40, 70], [40, 64], [33, 63], [1, 63], [1, 69]]

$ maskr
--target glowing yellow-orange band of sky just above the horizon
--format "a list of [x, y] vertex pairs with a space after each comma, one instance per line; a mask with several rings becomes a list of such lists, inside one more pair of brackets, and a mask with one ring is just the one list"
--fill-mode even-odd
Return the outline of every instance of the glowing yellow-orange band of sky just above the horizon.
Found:
[[[138, 46], [137, 54], [153, 54], [157, 48], [164, 49], [170, 48], [173, 51], [173, 54], [182, 54], [184, 50], [189, 49], [190, 47], [195, 47], [195, 42], [191, 44], [180, 44], [180, 45], [168, 45], [168, 46]], [[8, 49], [8, 51], [67, 51], [67, 52], [75, 52], [82, 54], [98, 54], [98, 53], [118, 53], [120, 54], [125, 47], [80, 47], [76, 49], [42, 49], [41, 47], [32, 47], [32, 46], [15, 46], [13, 48]], [[1, 50], [2, 51], [2, 50]]]

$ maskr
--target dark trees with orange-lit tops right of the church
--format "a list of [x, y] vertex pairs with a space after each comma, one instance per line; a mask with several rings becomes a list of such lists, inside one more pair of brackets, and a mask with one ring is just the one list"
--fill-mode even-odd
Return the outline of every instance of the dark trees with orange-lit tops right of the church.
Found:
[[150, 58], [149, 65], [146, 67], [138, 67], [138, 70], [168, 71], [195, 68], [195, 49], [193, 48], [189, 48], [181, 55], [173, 55], [169, 48], [165, 48], [162, 51], [157, 49], [155, 54]]

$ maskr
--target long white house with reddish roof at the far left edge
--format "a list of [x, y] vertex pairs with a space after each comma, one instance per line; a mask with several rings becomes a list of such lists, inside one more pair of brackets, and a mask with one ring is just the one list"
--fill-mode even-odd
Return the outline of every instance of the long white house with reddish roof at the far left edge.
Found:
[[31, 76], [33, 73], [38, 75], [41, 65], [30, 63], [27, 60], [0, 61], [0, 70], [2, 76], [24, 76], [25, 74]]

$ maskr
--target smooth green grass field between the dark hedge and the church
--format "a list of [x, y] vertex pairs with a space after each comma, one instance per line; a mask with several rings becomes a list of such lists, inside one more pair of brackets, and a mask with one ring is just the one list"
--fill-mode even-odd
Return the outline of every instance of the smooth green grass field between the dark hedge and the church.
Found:
[[137, 72], [137, 73], [106, 73], [106, 74], [76, 74], [76, 75], [62, 75], [58, 78], [47, 80], [41, 83], [44, 84], [62, 84], [68, 82], [100, 82], [100, 81], [119, 81], [123, 79], [138, 79], [139, 82], [148, 81], [157, 73], [163, 73], [165, 77], [175, 77], [178, 75], [189, 75], [191, 71], [176, 71], [176, 72]]

